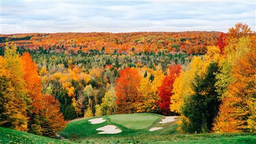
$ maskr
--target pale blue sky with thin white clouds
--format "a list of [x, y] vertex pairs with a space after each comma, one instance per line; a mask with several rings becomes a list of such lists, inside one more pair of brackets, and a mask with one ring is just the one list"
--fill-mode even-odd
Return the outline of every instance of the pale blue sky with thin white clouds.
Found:
[[256, 1], [0, 0], [0, 34], [223, 31], [256, 25]]

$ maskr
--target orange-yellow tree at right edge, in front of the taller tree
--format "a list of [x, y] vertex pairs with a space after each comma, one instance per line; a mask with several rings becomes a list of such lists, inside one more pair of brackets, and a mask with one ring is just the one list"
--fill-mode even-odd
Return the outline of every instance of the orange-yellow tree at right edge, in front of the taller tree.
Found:
[[[254, 48], [255, 49], [255, 48]], [[214, 125], [215, 132], [256, 132], [256, 52], [247, 52], [232, 68], [233, 82], [223, 98], [219, 116]], [[233, 125], [232, 129], [229, 125]]]

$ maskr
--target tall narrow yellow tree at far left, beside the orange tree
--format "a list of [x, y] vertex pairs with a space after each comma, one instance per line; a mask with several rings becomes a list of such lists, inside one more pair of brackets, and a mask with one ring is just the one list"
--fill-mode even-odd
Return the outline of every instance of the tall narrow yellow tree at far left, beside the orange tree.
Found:
[[[6, 45], [4, 57], [1, 58], [0, 66], [1, 69], [8, 72], [8, 79], [10, 81], [10, 91], [11, 95], [14, 95], [15, 100], [12, 103], [12, 108], [15, 112], [9, 117], [7, 123], [13, 129], [20, 131], [27, 131], [27, 101], [30, 99], [26, 95], [26, 83], [23, 80], [23, 71], [21, 57], [18, 52], [16, 52], [17, 47], [12, 45], [9, 47]], [[3, 71], [3, 70], [1, 70]]]

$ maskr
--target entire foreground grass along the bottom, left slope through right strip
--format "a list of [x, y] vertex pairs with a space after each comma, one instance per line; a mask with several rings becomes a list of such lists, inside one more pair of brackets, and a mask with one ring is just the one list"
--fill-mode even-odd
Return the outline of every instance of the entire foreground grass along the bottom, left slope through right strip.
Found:
[[256, 143], [253, 133], [236, 134], [172, 134], [141, 135], [138, 137], [86, 138], [78, 141], [60, 141], [34, 134], [0, 127], [0, 143]]

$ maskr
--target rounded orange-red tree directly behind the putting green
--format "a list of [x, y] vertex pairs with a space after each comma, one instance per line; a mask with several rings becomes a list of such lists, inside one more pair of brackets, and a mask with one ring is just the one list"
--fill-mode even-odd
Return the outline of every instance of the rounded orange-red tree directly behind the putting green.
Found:
[[118, 113], [135, 113], [134, 104], [138, 100], [138, 86], [140, 75], [137, 69], [125, 68], [119, 71], [116, 79], [116, 104]]

